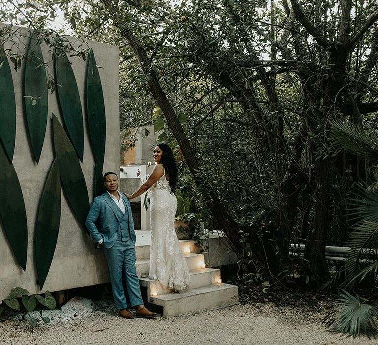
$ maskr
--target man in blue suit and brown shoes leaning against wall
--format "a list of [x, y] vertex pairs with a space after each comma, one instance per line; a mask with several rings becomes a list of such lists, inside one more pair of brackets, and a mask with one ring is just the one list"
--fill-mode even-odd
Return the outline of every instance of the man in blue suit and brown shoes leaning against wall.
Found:
[[134, 318], [133, 313], [127, 309], [122, 285], [124, 273], [131, 306], [136, 307], [136, 317], [155, 318], [157, 314], [143, 305], [136, 275], [136, 236], [130, 202], [118, 191], [116, 173], [105, 173], [104, 185], [106, 192], [93, 201], [85, 225], [93, 240], [104, 247], [116, 308], [119, 309], [120, 316]]

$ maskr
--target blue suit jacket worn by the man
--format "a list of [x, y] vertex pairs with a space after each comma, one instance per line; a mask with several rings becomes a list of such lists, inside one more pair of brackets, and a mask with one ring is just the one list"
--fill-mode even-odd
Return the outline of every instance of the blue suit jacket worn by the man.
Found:
[[[134, 222], [132, 220], [130, 201], [121, 193], [125, 205], [125, 213], [112, 200], [108, 192], [96, 197], [88, 212], [85, 225], [94, 242], [104, 239], [105, 248], [109, 249], [117, 241], [119, 229], [129, 231], [131, 240], [136, 242]], [[99, 228], [97, 228], [96, 223]]]

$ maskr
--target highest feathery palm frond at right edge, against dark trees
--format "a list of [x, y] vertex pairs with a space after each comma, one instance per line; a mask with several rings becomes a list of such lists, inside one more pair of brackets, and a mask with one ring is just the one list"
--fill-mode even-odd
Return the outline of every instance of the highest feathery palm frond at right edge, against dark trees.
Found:
[[342, 120], [331, 121], [330, 128], [330, 141], [335, 147], [378, 159], [378, 141], [371, 134]]

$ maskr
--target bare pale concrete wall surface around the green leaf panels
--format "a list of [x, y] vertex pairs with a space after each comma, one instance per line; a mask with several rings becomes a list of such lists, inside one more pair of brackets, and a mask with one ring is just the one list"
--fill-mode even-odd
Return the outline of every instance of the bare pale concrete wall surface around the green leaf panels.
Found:
[[[28, 44], [29, 31], [14, 28], [8, 37], [5, 49], [11, 48], [12, 53], [25, 53]], [[78, 46], [81, 42], [71, 38], [71, 42]], [[99, 69], [106, 110], [106, 150], [104, 172], [119, 170], [120, 134], [119, 134], [119, 92], [118, 92], [118, 48], [96, 42], [86, 42], [82, 48], [90, 47], [94, 50]], [[43, 46], [45, 62], [49, 65], [49, 74], [53, 73], [51, 50]], [[70, 57], [72, 67], [78, 84], [84, 115], [84, 87], [86, 62], [80, 58]], [[12, 67], [12, 65], [11, 65]], [[24, 67], [24, 66], [23, 66]], [[21, 188], [24, 195], [28, 220], [28, 261], [26, 272], [18, 265], [5, 232], [0, 224], [0, 300], [8, 296], [13, 287], [23, 287], [31, 293], [39, 293], [36, 284], [37, 275], [34, 262], [34, 225], [36, 211], [45, 179], [53, 160], [52, 150], [52, 112], [62, 117], [58, 109], [56, 94], [49, 91], [49, 119], [46, 136], [39, 164], [33, 160], [30, 142], [26, 132], [26, 119], [23, 109], [22, 80], [23, 67], [15, 71], [12, 68], [13, 82], [17, 104], [16, 147], [13, 159]], [[92, 202], [92, 181], [94, 159], [90, 147], [88, 128], [84, 120], [84, 160], [82, 164], [86, 179], [90, 202]], [[106, 260], [101, 250], [96, 250], [89, 236], [79, 227], [76, 219], [62, 191], [62, 211], [58, 242], [49, 274], [43, 291], [58, 291], [80, 286], [89, 286], [108, 282]], [[42, 292], [43, 292], [42, 291]]]

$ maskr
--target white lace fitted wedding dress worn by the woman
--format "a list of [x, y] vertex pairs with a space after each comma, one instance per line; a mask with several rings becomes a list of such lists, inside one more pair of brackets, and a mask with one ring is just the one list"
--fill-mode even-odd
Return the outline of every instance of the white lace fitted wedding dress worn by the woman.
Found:
[[186, 291], [190, 280], [188, 265], [173, 227], [177, 199], [171, 194], [164, 175], [150, 188], [150, 279], [158, 279], [165, 287]]

